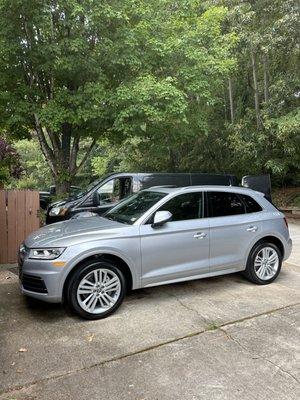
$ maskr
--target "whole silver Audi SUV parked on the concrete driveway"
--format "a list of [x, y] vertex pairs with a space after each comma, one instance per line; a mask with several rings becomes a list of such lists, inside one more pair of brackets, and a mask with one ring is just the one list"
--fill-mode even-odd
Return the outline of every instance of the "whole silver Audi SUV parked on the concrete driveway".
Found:
[[103, 217], [31, 234], [19, 252], [21, 290], [98, 319], [116, 311], [131, 289], [238, 271], [254, 283], [271, 283], [291, 248], [284, 215], [262, 193], [153, 187]]

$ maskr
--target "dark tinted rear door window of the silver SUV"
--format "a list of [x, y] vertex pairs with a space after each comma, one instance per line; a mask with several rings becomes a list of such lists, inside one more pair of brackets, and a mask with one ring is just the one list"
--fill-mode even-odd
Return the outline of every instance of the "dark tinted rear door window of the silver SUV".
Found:
[[211, 217], [245, 214], [245, 206], [235, 193], [208, 192], [208, 203]]

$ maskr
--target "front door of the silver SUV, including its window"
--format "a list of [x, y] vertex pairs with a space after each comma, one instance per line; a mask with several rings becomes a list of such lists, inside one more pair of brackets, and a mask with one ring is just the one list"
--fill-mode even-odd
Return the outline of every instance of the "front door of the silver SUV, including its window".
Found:
[[152, 216], [140, 227], [142, 286], [209, 272], [209, 224], [208, 218], [203, 218], [203, 194], [177, 195], [156, 211], [163, 210], [172, 213], [170, 222], [152, 228]]

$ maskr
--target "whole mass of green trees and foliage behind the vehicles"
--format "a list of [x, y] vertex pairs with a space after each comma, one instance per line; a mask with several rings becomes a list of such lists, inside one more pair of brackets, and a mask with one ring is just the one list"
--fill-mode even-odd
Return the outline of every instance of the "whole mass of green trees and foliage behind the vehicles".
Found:
[[[117, 170], [296, 184], [298, 24], [293, 0], [0, 0], [0, 127], [35, 132], [61, 191]], [[48, 185], [25, 143], [19, 185]]]

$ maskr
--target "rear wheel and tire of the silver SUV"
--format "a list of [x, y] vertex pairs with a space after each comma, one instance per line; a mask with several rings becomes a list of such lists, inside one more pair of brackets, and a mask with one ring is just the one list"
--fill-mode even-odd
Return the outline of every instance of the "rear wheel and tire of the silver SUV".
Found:
[[253, 283], [267, 285], [275, 281], [280, 273], [281, 264], [282, 254], [275, 244], [258, 242], [249, 254], [243, 275]]

